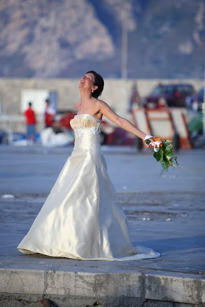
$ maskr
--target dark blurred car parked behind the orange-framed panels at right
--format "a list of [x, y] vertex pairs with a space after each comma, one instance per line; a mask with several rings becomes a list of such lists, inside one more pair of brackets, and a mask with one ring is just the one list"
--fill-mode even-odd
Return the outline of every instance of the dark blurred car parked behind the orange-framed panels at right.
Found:
[[194, 95], [191, 84], [159, 84], [145, 98], [145, 108], [185, 107], [186, 98]]

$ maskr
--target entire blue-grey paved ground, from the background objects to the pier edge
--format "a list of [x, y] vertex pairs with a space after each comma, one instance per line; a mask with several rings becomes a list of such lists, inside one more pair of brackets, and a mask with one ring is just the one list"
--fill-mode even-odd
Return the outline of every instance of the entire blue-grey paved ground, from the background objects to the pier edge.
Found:
[[[18, 252], [16, 246], [46, 200], [72, 147], [3, 146], [0, 147], [0, 268], [90, 273], [163, 272], [169, 276], [204, 279], [204, 149], [178, 152], [180, 166], [162, 177], [159, 176], [160, 165], [148, 148], [141, 153], [126, 147], [103, 147], [103, 150], [108, 172], [128, 217], [133, 244], [151, 247], [162, 256], [125, 262], [82, 261]], [[13, 194], [14, 198], [4, 198], [5, 194]], [[193, 302], [200, 302], [202, 297], [205, 300], [205, 294], [200, 293], [200, 299]]]

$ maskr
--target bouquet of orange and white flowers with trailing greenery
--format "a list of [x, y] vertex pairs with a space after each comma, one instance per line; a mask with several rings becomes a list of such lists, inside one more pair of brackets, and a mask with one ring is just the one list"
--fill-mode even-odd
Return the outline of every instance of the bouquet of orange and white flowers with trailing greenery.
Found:
[[[166, 139], [161, 141], [160, 138], [154, 136], [156, 141], [151, 142], [150, 140], [148, 140], [149, 138], [153, 138], [153, 136], [147, 135], [145, 137], [145, 143], [154, 146], [152, 148], [154, 152], [153, 156], [157, 160], [157, 162], [160, 161], [161, 163], [162, 167], [161, 175], [163, 174], [164, 171], [168, 171], [170, 166], [176, 167], [176, 165], [179, 165], [177, 162], [177, 157], [174, 157], [172, 141]], [[174, 164], [174, 161], [176, 165]]]

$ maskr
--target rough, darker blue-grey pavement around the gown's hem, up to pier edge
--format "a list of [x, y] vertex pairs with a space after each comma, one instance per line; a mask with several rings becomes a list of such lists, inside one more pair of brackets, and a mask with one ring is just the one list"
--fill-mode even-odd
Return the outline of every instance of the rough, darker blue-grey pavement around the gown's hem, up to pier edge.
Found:
[[[151, 197], [154, 196], [154, 200]], [[162, 257], [139, 261], [81, 261], [52, 258], [43, 255], [24, 255], [15, 250], [29, 230], [44, 197], [23, 196], [14, 200], [1, 200], [0, 217], [0, 268], [46, 269], [57, 267], [92, 267], [108, 269], [148, 268], [205, 273], [205, 195], [177, 193], [165, 194], [120, 194], [120, 200], [128, 217], [134, 245], [144, 245], [159, 251]], [[196, 202], [194, 205], [193, 203]], [[146, 221], [144, 221], [146, 219]], [[147, 221], [148, 219], [148, 221]], [[151, 220], [150, 220], [151, 219]], [[171, 221], [167, 221], [171, 219]], [[150, 221], [149, 221], [150, 220]]]

